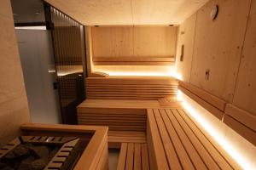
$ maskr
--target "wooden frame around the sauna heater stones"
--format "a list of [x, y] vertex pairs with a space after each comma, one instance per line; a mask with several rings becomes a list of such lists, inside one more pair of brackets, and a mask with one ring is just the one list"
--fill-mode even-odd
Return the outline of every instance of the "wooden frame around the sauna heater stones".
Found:
[[28, 122], [20, 129], [26, 135], [76, 136], [81, 139], [88, 139], [90, 134], [90, 142], [74, 169], [108, 169], [108, 127]]

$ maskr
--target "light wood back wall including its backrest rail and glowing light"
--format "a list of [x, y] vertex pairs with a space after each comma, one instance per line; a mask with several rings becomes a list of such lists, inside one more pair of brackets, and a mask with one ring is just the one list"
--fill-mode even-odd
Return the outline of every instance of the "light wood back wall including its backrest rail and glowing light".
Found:
[[173, 71], [176, 26], [87, 26], [87, 29], [91, 29], [91, 59], [101, 60], [93, 62], [93, 71], [110, 76], [147, 73], [170, 76]]

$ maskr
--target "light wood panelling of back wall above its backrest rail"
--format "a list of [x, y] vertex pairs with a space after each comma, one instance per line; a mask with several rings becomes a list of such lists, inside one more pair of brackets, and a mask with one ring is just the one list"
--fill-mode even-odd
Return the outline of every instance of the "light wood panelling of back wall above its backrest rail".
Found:
[[166, 57], [176, 50], [176, 27], [92, 27], [95, 57]]

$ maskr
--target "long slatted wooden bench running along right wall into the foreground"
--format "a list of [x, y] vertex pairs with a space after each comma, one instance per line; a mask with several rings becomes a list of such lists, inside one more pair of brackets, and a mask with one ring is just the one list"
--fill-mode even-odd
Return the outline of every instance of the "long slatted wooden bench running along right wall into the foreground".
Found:
[[148, 109], [151, 169], [241, 169], [182, 109]]

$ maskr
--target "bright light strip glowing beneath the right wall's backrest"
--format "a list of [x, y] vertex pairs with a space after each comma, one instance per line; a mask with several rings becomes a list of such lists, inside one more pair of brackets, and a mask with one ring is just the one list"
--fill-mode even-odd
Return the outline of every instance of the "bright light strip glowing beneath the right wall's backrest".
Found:
[[225, 135], [224, 132], [219, 132], [219, 129], [216, 127], [218, 125], [214, 124], [211, 119], [207, 119], [207, 116], [204, 116], [200, 111], [195, 109], [194, 105], [189, 102], [188, 96], [179, 90], [177, 98], [182, 101], [183, 107], [195, 118], [195, 121], [200, 123], [201, 127], [204, 127], [212, 138], [215, 139], [243, 169], [256, 169], [255, 165], [253, 165], [254, 163], [249, 161], [250, 158], [242, 155], [239, 149], [236, 148], [232, 139], [228, 138], [228, 135]]

